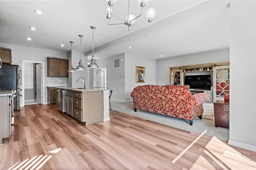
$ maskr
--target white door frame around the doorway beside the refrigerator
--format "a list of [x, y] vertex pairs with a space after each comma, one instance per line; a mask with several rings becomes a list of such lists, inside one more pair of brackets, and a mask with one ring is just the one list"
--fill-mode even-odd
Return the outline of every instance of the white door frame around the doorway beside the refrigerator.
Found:
[[[21, 68], [21, 70], [22, 70], [22, 77], [24, 77], [24, 62], [42, 64], [41, 65], [42, 66], [42, 71], [41, 71], [41, 77], [42, 77], [42, 82], [41, 82], [41, 84], [42, 84], [42, 104], [47, 104], [47, 102], [44, 103], [44, 87], [45, 87], [44, 86], [44, 62], [42, 62], [42, 61], [22, 60], [22, 68]], [[22, 80], [21, 85], [22, 85], [22, 97], [23, 97], [21, 107], [24, 107], [24, 105], [25, 105], [25, 100], [24, 100], [24, 97], [25, 97], [24, 80]]]

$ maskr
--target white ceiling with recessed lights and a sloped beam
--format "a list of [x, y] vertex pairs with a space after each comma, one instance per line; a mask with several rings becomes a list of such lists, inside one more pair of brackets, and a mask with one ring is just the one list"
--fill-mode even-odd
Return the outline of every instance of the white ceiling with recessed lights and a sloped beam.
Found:
[[[0, 41], [54, 51], [80, 51], [92, 55], [92, 29], [94, 30], [94, 55], [96, 59], [119, 53], [161, 59], [196, 52], [212, 51], [229, 47], [228, 1], [183, 1], [151, 0], [148, 8], [157, 10], [157, 17], [150, 28], [132, 26], [131, 31], [124, 24], [107, 24], [105, 0], [17, 0], [0, 1]], [[42, 15], [34, 10], [42, 10]], [[147, 26], [142, 16], [136, 24]], [[112, 6], [112, 13], [125, 20], [128, 0], [119, 0]], [[140, 6], [130, 2], [130, 13], [138, 15]], [[110, 23], [120, 20], [110, 19]], [[35, 27], [36, 30], [30, 30]], [[148, 35], [148, 36], [146, 36]], [[32, 38], [31, 41], [26, 40]], [[60, 44], [64, 44], [61, 47]], [[128, 47], [131, 46], [131, 49]], [[163, 57], [160, 57], [163, 55]]]

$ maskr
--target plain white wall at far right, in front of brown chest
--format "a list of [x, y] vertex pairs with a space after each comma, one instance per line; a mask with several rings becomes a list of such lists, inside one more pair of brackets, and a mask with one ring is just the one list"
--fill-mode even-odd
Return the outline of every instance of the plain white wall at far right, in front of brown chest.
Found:
[[[230, 2], [230, 140], [256, 151], [256, 2]], [[245, 82], [245, 83], [242, 83]]]

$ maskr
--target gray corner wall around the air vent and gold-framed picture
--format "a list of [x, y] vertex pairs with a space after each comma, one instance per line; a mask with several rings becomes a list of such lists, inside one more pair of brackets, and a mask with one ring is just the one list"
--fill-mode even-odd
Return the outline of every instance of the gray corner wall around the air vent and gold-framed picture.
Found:
[[[114, 68], [114, 59], [120, 61], [120, 67]], [[140, 57], [128, 53], [114, 55], [96, 62], [100, 67], [107, 67], [107, 87], [116, 89], [111, 99], [126, 101], [132, 100], [130, 93], [138, 85], [157, 84], [157, 60]], [[145, 83], [136, 83], [136, 66], [145, 67]], [[122, 76], [122, 77], [121, 77]]]

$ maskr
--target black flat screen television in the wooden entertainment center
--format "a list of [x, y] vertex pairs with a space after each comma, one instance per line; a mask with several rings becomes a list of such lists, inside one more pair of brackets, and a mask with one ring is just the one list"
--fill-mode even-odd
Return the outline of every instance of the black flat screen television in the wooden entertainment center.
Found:
[[189, 85], [190, 89], [210, 90], [211, 78], [211, 75], [186, 75], [184, 84]]

